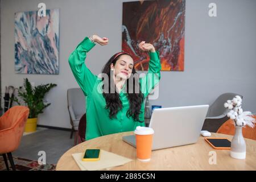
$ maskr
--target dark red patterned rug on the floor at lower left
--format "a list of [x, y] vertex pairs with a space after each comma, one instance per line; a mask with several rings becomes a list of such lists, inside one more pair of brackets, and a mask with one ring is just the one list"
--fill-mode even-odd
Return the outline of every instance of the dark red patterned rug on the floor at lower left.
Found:
[[[23, 159], [13, 156], [16, 171], [55, 171], [56, 164], [40, 165], [36, 160]], [[9, 169], [12, 170], [11, 164], [9, 163]], [[0, 155], [0, 171], [6, 171], [5, 160]]]

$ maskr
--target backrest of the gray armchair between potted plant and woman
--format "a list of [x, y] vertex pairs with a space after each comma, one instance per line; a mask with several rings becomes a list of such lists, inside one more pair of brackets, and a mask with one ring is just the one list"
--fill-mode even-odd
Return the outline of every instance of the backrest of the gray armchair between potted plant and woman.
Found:
[[[85, 96], [80, 88], [68, 89], [68, 107], [71, 106], [75, 116], [85, 113]], [[79, 118], [76, 118], [79, 119]]]

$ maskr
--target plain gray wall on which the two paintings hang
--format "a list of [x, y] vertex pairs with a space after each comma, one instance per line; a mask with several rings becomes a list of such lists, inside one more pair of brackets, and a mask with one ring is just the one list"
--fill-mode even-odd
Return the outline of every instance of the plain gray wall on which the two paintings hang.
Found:
[[[44, 1], [47, 9], [60, 9], [60, 74], [17, 75], [14, 72], [14, 13], [38, 10], [40, 2], [2, 1], [2, 94], [5, 85], [18, 87], [25, 77], [35, 85], [56, 83], [57, 87], [46, 97], [52, 104], [39, 115], [39, 124], [69, 128], [67, 89], [78, 84], [69, 69], [68, 56], [85, 36], [108, 37], [108, 46], [97, 45], [87, 57], [90, 70], [100, 73], [104, 63], [121, 51], [122, 1]], [[217, 4], [215, 18], [208, 16], [210, 2]], [[187, 0], [185, 70], [162, 72], [159, 98], [150, 104], [163, 107], [212, 104], [220, 94], [235, 92], [244, 96], [243, 109], [255, 113], [255, 8], [254, 0]]]

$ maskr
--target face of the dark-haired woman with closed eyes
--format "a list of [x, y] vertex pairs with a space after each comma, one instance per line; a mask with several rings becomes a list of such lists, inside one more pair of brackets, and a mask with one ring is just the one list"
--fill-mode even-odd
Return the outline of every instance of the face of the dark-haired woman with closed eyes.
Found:
[[114, 64], [111, 64], [111, 69], [114, 69], [114, 76], [127, 80], [133, 71], [133, 58], [129, 55], [121, 55]]

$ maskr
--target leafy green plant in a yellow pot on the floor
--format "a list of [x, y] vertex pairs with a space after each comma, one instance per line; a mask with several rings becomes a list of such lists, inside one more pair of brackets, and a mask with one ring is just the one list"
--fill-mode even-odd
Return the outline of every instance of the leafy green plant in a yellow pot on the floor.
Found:
[[[38, 121], [38, 114], [43, 113], [43, 110], [51, 105], [51, 103], [44, 103], [44, 96], [47, 92], [56, 84], [41, 84], [32, 87], [31, 83], [27, 78], [24, 78], [23, 87], [20, 86], [18, 90], [18, 97], [21, 98], [30, 109], [30, 114], [28, 115], [28, 120], [25, 126], [25, 132], [36, 131], [36, 125]], [[13, 99], [18, 105], [22, 105], [17, 97]]]

